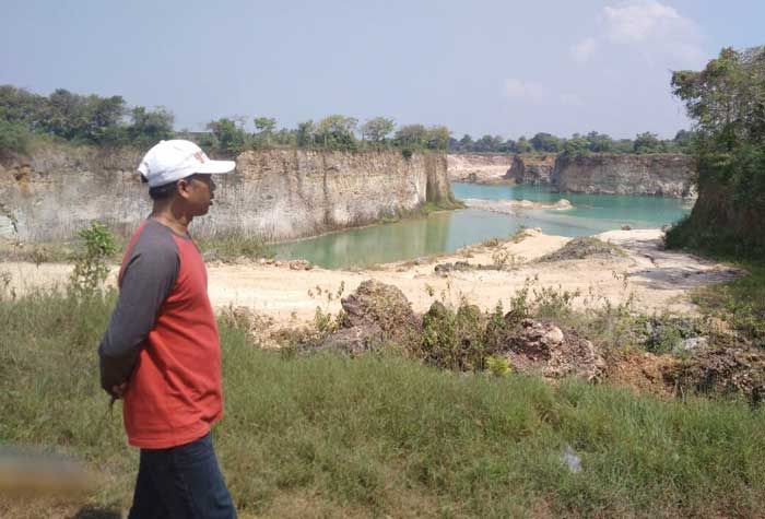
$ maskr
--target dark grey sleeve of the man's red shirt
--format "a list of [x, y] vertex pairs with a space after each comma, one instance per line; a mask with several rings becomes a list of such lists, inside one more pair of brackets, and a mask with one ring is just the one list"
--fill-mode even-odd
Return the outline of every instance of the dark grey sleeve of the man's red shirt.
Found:
[[173, 238], [157, 235], [151, 227], [144, 229], [123, 268], [117, 306], [98, 346], [101, 386], [109, 394], [114, 386], [130, 378], [179, 267]]

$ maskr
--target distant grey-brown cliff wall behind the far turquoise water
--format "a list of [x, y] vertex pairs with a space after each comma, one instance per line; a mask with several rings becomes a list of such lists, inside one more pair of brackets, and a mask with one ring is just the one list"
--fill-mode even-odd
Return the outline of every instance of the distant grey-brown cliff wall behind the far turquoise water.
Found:
[[687, 155], [516, 155], [508, 177], [516, 184], [601, 194], [694, 197], [694, 163]]

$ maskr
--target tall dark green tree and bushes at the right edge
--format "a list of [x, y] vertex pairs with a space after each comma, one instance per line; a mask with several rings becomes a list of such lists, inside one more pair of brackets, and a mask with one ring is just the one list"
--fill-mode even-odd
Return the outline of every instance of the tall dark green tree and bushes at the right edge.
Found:
[[692, 247], [762, 261], [765, 255], [765, 47], [723, 49], [672, 87], [695, 120], [698, 201], [667, 235]]

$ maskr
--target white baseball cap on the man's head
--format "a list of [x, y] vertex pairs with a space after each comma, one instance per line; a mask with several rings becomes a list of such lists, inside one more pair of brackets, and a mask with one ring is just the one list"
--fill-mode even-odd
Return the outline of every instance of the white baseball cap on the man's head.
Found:
[[164, 186], [195, 173], [222, 174], [233, 173], [234, 161], [212, 161], [191, 141], [180, 139], [160, 141], [149, 150], [138, 170], [149, 182], [149, 187]]

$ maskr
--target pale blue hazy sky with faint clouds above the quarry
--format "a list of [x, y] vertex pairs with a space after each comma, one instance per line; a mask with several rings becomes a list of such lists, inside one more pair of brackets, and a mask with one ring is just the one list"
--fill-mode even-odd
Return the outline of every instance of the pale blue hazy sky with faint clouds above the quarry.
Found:
[[293, 127], [329, 114], [456, 138], [688, 126], [671, 70], [765, 44], [765, 0], [0, 0], [0, 84]]

